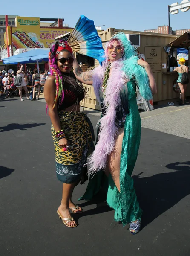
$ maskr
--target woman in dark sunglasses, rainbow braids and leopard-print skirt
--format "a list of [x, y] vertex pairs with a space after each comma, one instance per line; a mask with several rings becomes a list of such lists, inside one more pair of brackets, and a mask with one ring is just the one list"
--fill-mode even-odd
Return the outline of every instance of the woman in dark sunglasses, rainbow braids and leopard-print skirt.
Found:
[[51, 76], [46, 79], [44, 96], [52, 121], [52, 137], [55, 145], [56, 172], [63, 183], [59, 218], [67, 227], [77, 227], [71, 213], [82, 213], [83, 209], [72, 202], [76, 185], [87, 180], [86, 158], [94, 149], [92, 124], [84, 112], [80, 112], [80, 101], [85, 92], [74, 74], [72, 49], [64, 41], [57, 41], [49, 52]]

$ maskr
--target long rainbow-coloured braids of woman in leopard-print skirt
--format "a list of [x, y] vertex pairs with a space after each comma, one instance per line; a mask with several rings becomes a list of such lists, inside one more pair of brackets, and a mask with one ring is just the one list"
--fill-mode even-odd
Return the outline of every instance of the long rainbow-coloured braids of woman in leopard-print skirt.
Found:
[[[54, 45], [52, 45], [50, 52], [49, 52], [49, 64], [50, 64], [50, 72], [51, 75], [55, 76], [55, 84], [56, 84], [56, 94], [55, 94], [55, 100], [53, 108], [55, 107], [56, 102], [58, 101], [58, 98], [60, 98], [60, 104], [63, 102], [64, 99], [64, 91], [63, 91], [63, 75], [58, 68], [58, 64], [56, 61], [56, 56], [58, 55], [58, 48], [60, 49], [60, 45], [63, 45], [63, 43], [66, 44], [66, 47], [62, 47], [62, 50], [68, 50], [68, 45], [63, 40], [56, 41]], [[70, 47], [69, 47], [70, 48]], [[70, 51], [69, 51], [70, 52]]]

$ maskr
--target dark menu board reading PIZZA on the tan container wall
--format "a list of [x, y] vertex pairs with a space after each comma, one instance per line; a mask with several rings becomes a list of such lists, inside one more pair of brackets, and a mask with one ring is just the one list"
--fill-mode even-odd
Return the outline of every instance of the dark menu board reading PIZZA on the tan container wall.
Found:
[[145, 58], [152, 71], [162, 70], [161, 46], [145, 46]]

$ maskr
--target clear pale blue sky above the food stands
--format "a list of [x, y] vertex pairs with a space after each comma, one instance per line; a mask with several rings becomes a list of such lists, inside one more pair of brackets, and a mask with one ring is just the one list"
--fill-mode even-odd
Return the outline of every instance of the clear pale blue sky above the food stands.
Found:
[[[167, 6], [176, 0], [9, 0], [9, 7], [1, 8], [0, 15], [19, 15], [24, 17], [64, 18], [64, 23], [75, 26], [79, 16], [85, 15], [94, 20], [95, 26], [102, 29], [114, 27], [144, 31], [168, 24]], [[57, 3], [57, 6], [56, 6]], [[181, 3], [181, 0], [179, 0]], [[170, 15], [173, 30], [190, 29], [190, 10]]]

